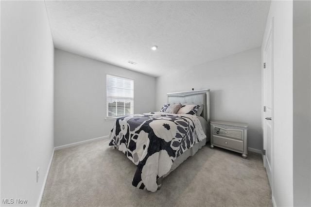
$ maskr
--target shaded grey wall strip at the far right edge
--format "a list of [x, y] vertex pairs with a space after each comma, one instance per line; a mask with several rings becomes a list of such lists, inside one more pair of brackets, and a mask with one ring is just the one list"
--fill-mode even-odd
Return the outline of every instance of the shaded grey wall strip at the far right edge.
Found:
[[311, 10], [294, 1], [294, 206], [311, 206]]

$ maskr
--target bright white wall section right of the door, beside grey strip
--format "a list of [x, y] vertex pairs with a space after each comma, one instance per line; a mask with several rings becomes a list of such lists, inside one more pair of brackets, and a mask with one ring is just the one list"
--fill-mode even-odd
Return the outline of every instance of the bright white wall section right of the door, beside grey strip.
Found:
[[[293, 206], [293, 1], [271, 1], [274, 17], [274, 206]], [[263, 126], [263, 124], [262, 124]]]

